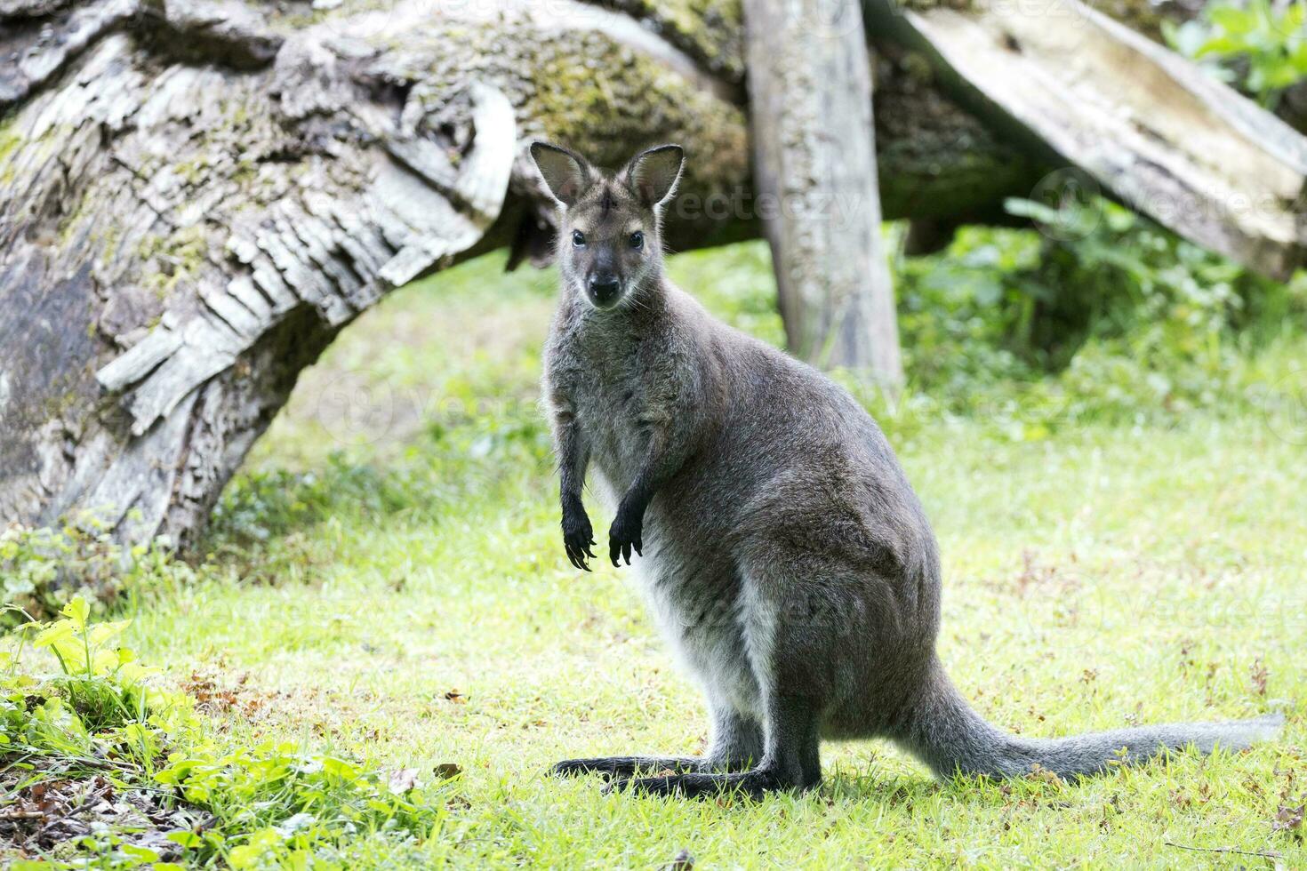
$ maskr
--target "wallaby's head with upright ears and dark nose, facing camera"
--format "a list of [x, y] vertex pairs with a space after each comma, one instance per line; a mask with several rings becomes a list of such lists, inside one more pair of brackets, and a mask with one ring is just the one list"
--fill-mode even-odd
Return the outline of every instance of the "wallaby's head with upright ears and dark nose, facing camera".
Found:
[[596, 308], [618, 306], [661, 266], [660, 206], [676, 188], [685, 153], [680, 145], [651, 148], [616, 175], [545, 142], [533, 142], [531, 157], [562, 206], [558, 268], [565, 286]]

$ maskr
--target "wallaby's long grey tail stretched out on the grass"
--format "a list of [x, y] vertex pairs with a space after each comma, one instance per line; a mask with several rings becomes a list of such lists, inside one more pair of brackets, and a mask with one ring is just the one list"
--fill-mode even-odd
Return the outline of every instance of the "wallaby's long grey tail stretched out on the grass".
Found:
[[1191, 744], [1204, 753], [1217, 746], [1243, 750], [1274, 738], [1283, 723], [1283, 717], [1266, 716], [1223, 723], [1115, 729], [1073, 738], [1017, 738], [995, 729], [972, 710], [938, 663], [932, 673], [898, 738], [938, 777], [951, 777], [957, 772], [1019, 776], [1029, 774], [1036, 764], [1059, 777], [1094, 774], [1116, 761], [1133, 764], [1163, 750]]

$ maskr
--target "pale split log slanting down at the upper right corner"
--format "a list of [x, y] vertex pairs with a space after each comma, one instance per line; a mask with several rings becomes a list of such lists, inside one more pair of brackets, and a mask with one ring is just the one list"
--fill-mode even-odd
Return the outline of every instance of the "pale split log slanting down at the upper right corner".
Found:
[[1302, 264], [1307, 138], [1183, 57], [1078, 0], [868, 8], [1031, 151], [1261, 273]]

